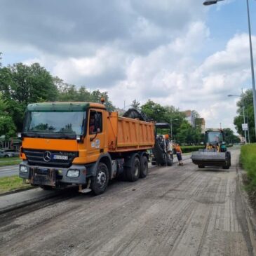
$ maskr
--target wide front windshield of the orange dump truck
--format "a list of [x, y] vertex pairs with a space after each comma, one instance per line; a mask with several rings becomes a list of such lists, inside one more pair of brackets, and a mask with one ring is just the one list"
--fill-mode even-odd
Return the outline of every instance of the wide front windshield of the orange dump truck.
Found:
[[24, 133], [82, 135], [85, 112], [27, 112]]

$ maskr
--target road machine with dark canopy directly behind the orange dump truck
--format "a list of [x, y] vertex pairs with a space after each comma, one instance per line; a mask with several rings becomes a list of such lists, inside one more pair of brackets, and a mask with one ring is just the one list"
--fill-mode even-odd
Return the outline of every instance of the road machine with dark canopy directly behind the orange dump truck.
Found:
[[166, 133], [170, 130], [169, 123], [155, 124], [155, 144], [152, 149], [153, 156], [151, 159], [152, 165], [172, 166], [173, 165], [173, 147], [172, 142]]

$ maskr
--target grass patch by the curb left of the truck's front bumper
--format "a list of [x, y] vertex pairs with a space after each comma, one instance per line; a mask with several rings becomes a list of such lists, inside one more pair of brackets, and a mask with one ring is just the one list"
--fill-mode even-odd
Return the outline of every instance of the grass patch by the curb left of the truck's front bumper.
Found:
[[28, 187], [31, 187], [31, 185], [23, 183], [23, 180], [18, 175], [0, 178], [0, 194]]

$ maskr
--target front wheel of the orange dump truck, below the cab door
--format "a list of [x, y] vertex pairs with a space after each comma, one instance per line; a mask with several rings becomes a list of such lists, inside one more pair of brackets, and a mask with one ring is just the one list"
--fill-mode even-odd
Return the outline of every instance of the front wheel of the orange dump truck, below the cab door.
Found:
[[109, 183], [109, 170], [105, 163], [99, 163], [95, 177], [92, 178], [90, 188], [95, 196], [102, 194], [107, 189]]

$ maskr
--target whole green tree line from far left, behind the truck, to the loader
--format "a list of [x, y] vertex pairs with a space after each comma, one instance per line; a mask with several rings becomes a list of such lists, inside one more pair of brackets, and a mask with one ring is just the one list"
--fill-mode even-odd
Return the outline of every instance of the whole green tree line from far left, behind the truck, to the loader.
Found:
[[[100, 102], [105, 97], [105, 105], [109, 112], [116, 109], [109, 100], [107, 92], [93, 90], [86, 86], [77, 86], [65, 83], [62, 79], [52, 76], [39, 63], [25, 65], [16, 63], [1, 66], [0, 53], [0, 136], [15, 137], [22, 130], [25, 108], [29, 103], [52, 101], [81, 101]], [[172, 124], [173, 139], [182, 144], [199, 144], [203, 142], [201, 123], [196, 122], [192, 127], [185, 119], [184, 112], [173, 106], [162, 106], [148, 100], [140, 106], [140, 102], [133, 100], [132, 107], [142, 110], [149, 119], [156, 122]], [[196, 121], [200, 116], [194, 112]], [[228, 130], [229, 137], [236, 137], [232, 130]]]

